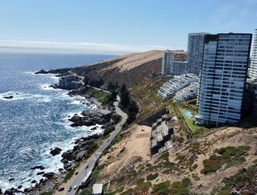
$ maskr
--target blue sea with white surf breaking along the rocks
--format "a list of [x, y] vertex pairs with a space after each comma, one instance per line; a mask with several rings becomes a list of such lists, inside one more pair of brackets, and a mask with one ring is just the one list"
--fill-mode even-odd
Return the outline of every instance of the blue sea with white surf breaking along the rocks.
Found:
[[[82, 104], [81, 97], [71, 98], [67, 91], [50, 88], [58, 83], [55, 75], [35, 75], [31, 72], [56, 68], [76, 67], [96, 63], [113, 56], [92, 54], [0, 54], [0, 188], [22, 185], [33, 186], [32, 180], [40, 170], [31, 170], [35, 165], [45, 166], [44, 172], [63, 168], [60, 155], [51, 156], [50, 149], [56, 146], [65, 150], [73, 148], [78, 137], [101, 132], [90, 127], [69, 127], [68, 115], [95, 105]], [[13, 95], [7, 100], [3, 96]], [[15, 178], [9, 181], [9, 178]]]

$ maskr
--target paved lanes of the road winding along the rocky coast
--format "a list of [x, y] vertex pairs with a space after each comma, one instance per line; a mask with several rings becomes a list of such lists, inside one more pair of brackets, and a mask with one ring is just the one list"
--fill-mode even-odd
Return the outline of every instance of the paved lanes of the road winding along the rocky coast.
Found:
[[97, 162], [97, 159], [99, 158], [101, 153], [103, 153], [103, 151], [110, 145], [110, 143], [115, 138], [115, 135], [120, 130], [122, 130], [122, 125], [124, 125], [124, 123], [126, 123], [126, 119], [128, 118], [128, 116], [121, 109], [119, 109], [119, 107], [118, 107], [119, 101], [120, 101], [120, 98], [117, 95], [117, 102], [114, 102], [113, 104], [115, 105], [117, 114], [122, 116], [122, 120], [115, 126], [114, 133], [110, 134], [110, 137], [108, 138], [109, 141], [107, 141], [107, 140], [104, 141], [104, 143], [100, 146], [100, 148], [92, 155], [92, 157], [90, 157], [90, 159], [88, 161], [88, 169], [82, 169], [82, 171], [80, 171], [78, 173], [78, 175], [76, 175], [76, 178], [73, 180], [72, 184], [70, 185], [70, 186], [72, 186], [72, 191], [67, 192], [67, 189], [65, 189], [66, 195], [73, 195], [75, 193], [75, 190], [73, 189], [74, 185], [77, 185], [77, 186], [81, 185], [81, 181], [83, 180], [83, 178], [85, 178], [86, 173], [88, 173], [89, 171], [92, 171], [92, 169], [94, 168], [94, 164]]

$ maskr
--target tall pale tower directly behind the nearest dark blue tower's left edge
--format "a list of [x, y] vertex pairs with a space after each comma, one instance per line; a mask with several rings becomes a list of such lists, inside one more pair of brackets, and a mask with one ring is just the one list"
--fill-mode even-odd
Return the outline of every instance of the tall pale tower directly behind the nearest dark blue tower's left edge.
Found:
[[199, 75], [204, 55], [204, 36], [210, 33], [188, 34], [188, 73]]

